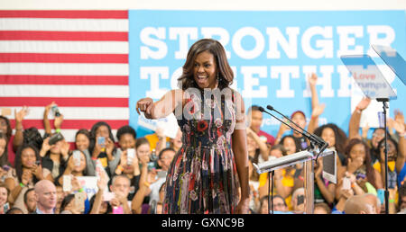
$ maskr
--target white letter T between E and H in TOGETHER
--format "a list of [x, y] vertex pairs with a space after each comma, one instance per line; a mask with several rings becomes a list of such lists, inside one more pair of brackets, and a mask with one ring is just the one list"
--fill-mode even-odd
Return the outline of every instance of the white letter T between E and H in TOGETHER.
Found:
[[273, 66], [271, 67], [271, 78], [277, 79], [281, 75], [281, 89], [276, 90], [278, 98], [295, 97], [295, 92], [291, 89], [290, 77], [299, 78], [299, 66]]

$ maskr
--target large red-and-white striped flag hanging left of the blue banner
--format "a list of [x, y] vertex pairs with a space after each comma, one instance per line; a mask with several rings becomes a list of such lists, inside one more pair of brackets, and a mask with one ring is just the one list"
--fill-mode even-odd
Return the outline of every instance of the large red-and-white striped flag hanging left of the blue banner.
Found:
[[0, 11], [0, 108], [14, 128], [28, 106], [23, 128], [43, 134], [55, 101], [69, 142], [99, 120], [115, 135], [129, 120], [128, 51], [128, 11]]

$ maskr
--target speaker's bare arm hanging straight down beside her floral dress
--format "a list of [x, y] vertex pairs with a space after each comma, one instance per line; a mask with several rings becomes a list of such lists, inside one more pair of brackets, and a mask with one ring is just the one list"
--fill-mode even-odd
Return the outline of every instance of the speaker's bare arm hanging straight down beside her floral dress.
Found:
[[241, 199], [235, 213], [248, 213], [249, 184], [248, 184], [248, 151], [246, 149], [245, 105], [240, 94], [236, 94], [236, 124], [232, 135], [232, 146], [235, 155], [235, 165], [241, 187]]

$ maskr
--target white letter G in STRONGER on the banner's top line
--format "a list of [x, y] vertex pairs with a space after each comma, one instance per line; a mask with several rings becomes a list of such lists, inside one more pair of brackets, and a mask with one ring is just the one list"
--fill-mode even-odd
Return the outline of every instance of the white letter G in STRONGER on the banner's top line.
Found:
[[[311, 48], [310, 41], [316, 36], [321, 35], [325, 39], [316, 40], [316, 48]], [[301, 37], [301, 48], [309, 58], [333, 58], [333, 28], [332, 27], [310, 27]]]

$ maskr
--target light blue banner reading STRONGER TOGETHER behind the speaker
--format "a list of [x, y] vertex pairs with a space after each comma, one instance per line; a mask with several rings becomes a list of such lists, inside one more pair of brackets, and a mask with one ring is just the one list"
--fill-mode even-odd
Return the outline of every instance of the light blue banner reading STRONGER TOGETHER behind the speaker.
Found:
[[[390, 46], [406, 57], [405, 11], [129, 11], [130, 124], [139, 136], [151, 133], [137, 125], [135, 103], [145, 96], [158, 100], [177, 88], [189, 47], [213, 38], [226, 49], [235, 73], [233, 87], [252, 104], [290, 116], [311, 116], [308, 75], [318, 75], [319, 103], [326, 103], [319, 124], [336, 123], [348, 130], [351, 76], [343, 55], [368, 54], [383, 60], [371, 44]], [[392, 74], [389, 74], [391, 76]], [[406, 87], [387, 78], [397, 93], [393, 110], [406, 113]], [[263, 130], [277, 134], [280, 123], [263, 116]]]

